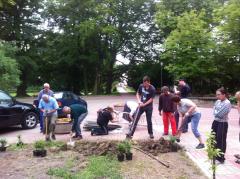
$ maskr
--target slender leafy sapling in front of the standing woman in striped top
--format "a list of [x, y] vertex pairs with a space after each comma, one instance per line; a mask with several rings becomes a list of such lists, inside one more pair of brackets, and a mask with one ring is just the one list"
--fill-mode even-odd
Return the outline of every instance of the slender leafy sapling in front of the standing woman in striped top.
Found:
[[207, 144], [207, 148], [206, 148], [206, 151], [207, 151], [207, 154], [208, 154], [208, 160], [210, 161], [211, 163], [211, 170], [213, 172], [213, 179], [216, 178], [216, 169], [217, 169], [217, 166], [216, 166], [216, 157], [220, 156], [222, 154], [221, 150], [220, 149], [217, 149], [215, 146], [216, 146], [216, 140], [215, 140], [215, 132], [211, 131], [210, 134], [207, 135], [207, 141], [206, 141], [206, 144]]

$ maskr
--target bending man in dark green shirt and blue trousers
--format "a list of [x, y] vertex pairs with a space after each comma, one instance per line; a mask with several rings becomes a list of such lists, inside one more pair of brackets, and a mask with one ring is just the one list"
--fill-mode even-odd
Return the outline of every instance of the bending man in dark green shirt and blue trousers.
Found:
[[87, 116], [87, 109], [81, 104], [72, 104], [69, 107], [64, 106], [63, 112], [65, 114], [71, 114], [71, 118], [73, 119], [72, 132], [75, 132], [73, 138], [82, 139], [80, 125]]

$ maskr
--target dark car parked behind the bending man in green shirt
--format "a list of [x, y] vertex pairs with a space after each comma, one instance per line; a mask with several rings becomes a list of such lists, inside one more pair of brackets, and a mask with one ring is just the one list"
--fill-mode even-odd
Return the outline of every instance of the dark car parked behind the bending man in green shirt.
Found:
[[54, 98], [58, 102], [58, 116], [64, 117], [65, 115], [62, 112], [64, 106], [70, 106], [72, 104], [81, 104], [87, 109], [87, 102], [81, 97], [77, 96], [71, 91], [59, 91], [53, 94]]

